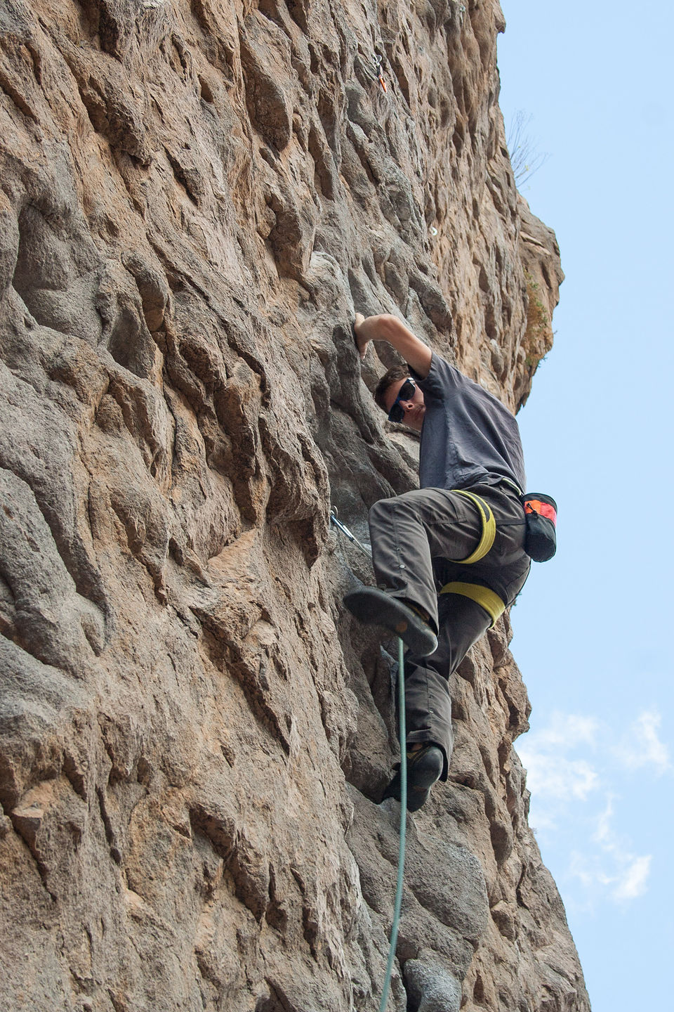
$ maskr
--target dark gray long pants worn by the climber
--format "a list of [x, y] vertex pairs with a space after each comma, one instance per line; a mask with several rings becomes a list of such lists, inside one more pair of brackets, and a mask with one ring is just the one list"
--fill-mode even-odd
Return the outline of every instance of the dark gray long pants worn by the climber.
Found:
[[489, 553], [469, 566], [482, 536], [478, 507], [445, 489], [416, 489], [382, 499], [370, 510], [370, 536], [377, 584], [393, 597], [423, 608], [438, 634], [430, 657], [405, 658], [407, 744], [434, 742], [445, 753], [443, 779], [452, 755], [450, 676], [491, 623], [469, 597], [441, 594], [452, 581], [488, 587], [507, 605], [521, 590], [531, 566], [523, 549], [524, 510], [506, 483], [474, 485], [470, 491], [490, 506], [496, 536]]

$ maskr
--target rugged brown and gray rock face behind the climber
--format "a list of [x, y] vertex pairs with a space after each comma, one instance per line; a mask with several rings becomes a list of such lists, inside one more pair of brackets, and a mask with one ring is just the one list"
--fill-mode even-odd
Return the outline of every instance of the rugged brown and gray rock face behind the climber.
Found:
[[[393, 663], [328, 515], [367, 537], [416, 443], [351, 322], [524, 401], [562, 274], [502, 28], [496, 0], [3, 6], [3, 1010], [378, 1008]], [[455, 676], [450, 781], [409, 817], [398, 1012], [589, 1009], [509, 634]]]

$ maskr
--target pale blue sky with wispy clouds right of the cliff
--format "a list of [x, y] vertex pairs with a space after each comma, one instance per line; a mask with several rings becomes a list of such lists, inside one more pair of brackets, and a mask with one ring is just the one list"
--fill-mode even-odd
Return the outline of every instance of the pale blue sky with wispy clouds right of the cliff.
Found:
[[555, 347], [519, 413], [559, 551], [512, 614], [534, 710], [516, 744], [593, 1012], [670, 1008], [674, 954], [674, 13], [502, 0], [501, 108], [549, 158]]

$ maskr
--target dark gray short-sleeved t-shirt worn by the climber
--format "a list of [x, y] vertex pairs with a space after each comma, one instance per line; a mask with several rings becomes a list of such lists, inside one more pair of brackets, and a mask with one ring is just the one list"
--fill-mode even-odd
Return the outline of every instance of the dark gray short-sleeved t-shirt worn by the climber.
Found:
[[519, 428], [508, 409], [479, 384], [432, 354], [421, 380], [425, 414], [419, 449], [422, 489], [465, 489], [508, 478], [525, 490]]

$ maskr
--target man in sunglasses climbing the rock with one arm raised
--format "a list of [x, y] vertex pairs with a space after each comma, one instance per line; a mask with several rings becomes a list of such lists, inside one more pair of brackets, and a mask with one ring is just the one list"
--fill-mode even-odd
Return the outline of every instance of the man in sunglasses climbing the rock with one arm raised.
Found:
[[[380, 380], [375, 401], [420, 433], [419, 486], [369, 514], [378, 587], [347, 594], [361, 621], [401, 636], [405, 657], [407, 808], [447, 780], [452, 754], [450, 676], [521, 590], [524, 468], [513, 415], [431, 351], [396, 317], [360, 313], [356, 344], [393, 345], [405, 365]], [[400, 773], [384, 797], [400, 799]]]

